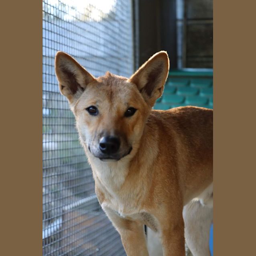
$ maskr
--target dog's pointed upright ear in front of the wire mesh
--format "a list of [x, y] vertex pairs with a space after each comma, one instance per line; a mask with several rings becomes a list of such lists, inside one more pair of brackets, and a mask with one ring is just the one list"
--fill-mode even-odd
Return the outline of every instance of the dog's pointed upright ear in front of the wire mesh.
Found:
[[74, 103], [95, 78], [67, 53], [58, 51], [55, 56], [55, 73], [61, 94]]

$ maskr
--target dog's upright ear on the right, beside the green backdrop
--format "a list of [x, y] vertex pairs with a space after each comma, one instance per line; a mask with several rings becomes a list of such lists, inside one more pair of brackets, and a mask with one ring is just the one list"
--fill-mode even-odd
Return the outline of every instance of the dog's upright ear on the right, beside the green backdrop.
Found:
[[168, 54], [166, 51], [160, 51], [150, 57], [129, 80], [137, 85], [144, 100], [152, 107], [163, 93], [168, 72]]

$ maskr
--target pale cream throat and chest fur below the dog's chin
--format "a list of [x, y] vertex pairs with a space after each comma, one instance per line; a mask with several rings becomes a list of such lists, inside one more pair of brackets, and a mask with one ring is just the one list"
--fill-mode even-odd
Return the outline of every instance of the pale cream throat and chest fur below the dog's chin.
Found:
[[[98, 158], [91, 159], [95, 182], [104, 193], [105, 200], [102, 202], [102, 209], [111, 209], [119, 217], [138, 220], [149, 226], [152, 230], [158, 230], [158, 221], [145, 209], [141, 209], [136, 198], [136, 188], [123, 193], [121, 191], [128, 175], [128, 161], [102, 162]], [[122, 193], [121, 193], [122, 192]], [[140, 191], [141, 193], [141, 191]]]

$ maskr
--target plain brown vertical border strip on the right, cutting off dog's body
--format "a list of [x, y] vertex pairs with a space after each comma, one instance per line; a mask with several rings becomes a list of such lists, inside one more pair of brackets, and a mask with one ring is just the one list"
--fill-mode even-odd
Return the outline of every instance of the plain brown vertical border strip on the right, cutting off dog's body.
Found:
[[215, 256], [255, 254], [254, 10], [255, 3], [213, 1]]

